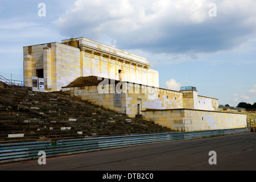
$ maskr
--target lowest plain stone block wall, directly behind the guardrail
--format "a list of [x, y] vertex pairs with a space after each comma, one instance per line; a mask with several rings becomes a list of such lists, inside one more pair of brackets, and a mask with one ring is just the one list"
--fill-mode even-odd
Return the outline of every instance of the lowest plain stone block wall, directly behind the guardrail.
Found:
[[143, 118], [177, 131], [236, 129], [246, 127], [246, 114], [194, 109], [142, 111]]

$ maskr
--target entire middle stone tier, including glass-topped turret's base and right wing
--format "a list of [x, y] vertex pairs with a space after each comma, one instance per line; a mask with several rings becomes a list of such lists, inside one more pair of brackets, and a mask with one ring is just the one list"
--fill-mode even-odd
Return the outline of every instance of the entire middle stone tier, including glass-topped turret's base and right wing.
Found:
[[[90, 78], [84, 77], [84, 79], [89, 80]], [[130, 117], [141, 114], [138, 113], [138, 105], [141, 111], [181, 108], [218, 110], [218, 100], [216, 98], [197, 96], [197, 90], [177, 92], [133, 82], [118, 82], [114, 80], [113, 84], [111, 84], [110, 81], [104, 81], [107, 80], [106, 78], [100, 78], [98, 80], [102, 81], [96, 82], [95, 84], [90, 82], [89, 85], [77, 84], [75, 86], [66, 86], [62, 88], [62, 92], [82, 100], [88, 100], [97, 105], [102, 105], [108, 109], [119, 111]], [[100, 84], [104, 85], [104, 89], [101, 90]], [[114, 93], [121, 94], [121, 106], [114, 106]]]

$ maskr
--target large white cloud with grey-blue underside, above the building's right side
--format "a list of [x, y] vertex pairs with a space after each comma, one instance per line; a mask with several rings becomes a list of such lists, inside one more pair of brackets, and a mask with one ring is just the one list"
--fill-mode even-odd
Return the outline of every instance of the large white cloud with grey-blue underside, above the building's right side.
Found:
[[239, 46], [255, 34], [256, 2], [212, 0], [77, 0], [56, 20], [61, 34], [116, 41], [121, 49], [152, 53], [217, 52]]

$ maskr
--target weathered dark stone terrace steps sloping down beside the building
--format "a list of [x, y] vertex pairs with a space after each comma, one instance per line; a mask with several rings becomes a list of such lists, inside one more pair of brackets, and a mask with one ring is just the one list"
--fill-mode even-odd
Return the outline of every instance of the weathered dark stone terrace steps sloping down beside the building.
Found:
[[61, 93], [0, 88], [0, 143], [163, 132], [171, 130]]

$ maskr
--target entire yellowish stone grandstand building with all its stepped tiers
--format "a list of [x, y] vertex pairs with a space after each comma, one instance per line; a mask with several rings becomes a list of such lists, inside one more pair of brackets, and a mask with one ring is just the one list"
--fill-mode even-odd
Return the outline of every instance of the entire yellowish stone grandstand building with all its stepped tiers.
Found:
[[159, 88], [158, 71], [144, 57], [86, 38], [23, 47], [24, 84], [44, 79], [59, 91], [130, 117], [141, 115], [178, 131], [246, 127], [246, 115], [218, 111], [218, 100], [187, 86]]

